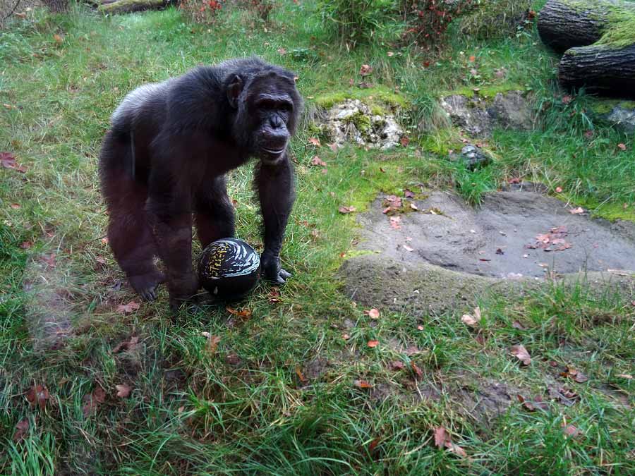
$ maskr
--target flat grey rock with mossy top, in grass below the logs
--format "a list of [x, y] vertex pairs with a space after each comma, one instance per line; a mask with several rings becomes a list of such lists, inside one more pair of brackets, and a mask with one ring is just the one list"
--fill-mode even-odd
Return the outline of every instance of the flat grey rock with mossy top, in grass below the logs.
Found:
[[528, 130], [533, 125], [531, 108], [521, 91], [499, 92], [493, 99], [480, 94], [453, 94], [441, 99], [454, 126], [473, 137], [489, 137], [496, 127]]

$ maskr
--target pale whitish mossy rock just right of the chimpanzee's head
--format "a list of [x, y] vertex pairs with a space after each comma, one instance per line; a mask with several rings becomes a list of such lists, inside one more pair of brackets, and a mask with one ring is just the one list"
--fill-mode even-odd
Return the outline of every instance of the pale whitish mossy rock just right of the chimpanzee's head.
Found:
[[389, 111], [371, 110], [359, 99], [345, 99], [319, 119], [322, 133], [337, 145], [354, 142], [363, 147], [389, 149], [399, 144], [404, 130]]

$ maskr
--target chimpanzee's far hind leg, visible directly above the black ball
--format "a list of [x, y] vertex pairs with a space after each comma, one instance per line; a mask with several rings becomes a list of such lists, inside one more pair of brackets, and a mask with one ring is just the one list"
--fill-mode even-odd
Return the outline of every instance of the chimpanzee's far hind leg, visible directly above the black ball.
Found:
[[224, 176], [200, 190], [195, 203], [196, 232], [202, 248], [220, 238], [234, 236], [234, 206], [227, 196]]

